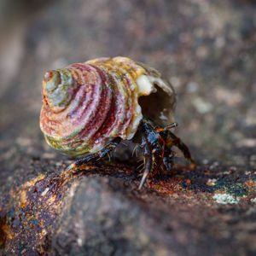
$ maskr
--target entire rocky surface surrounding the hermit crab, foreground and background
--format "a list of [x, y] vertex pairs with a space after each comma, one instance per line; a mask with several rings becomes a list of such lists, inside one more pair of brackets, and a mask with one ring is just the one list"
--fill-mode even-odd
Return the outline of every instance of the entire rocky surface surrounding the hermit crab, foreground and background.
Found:
[[[38, 3], [1, 2], [0, 254], [255, 254], [255, 3]], [[133, 160], [66, 172], [44, 143], [44, 72], [109, 55], [172, 82], [194, 172], [176, 166], [139, 192]]]

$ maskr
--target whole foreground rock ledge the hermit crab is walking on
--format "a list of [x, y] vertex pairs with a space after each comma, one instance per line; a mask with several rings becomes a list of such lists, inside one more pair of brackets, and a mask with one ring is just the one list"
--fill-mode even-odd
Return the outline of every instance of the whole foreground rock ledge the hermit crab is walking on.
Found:
[[142, 191], [131, 165], [41, 174], [2, 200], [0, 253], [247, 255], [256, 249], [255, 180], [217, 161], [177, 166]]

